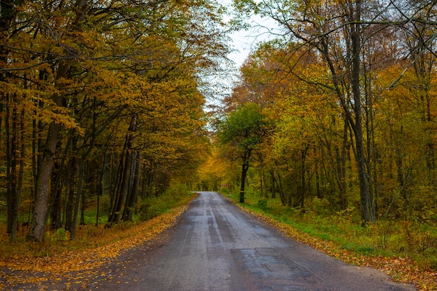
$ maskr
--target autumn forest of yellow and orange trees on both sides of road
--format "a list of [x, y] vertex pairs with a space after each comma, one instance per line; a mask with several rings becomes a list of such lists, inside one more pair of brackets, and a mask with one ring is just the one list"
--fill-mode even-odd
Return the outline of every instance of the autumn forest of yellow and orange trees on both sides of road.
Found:
[[[219, 191], [282, 220], [378, 232], [372, 248], [437, 268], [436, 1], [0, 3], [10, 244]], [[281, 33], [223, 94], [229, 35], [253, 14]]]

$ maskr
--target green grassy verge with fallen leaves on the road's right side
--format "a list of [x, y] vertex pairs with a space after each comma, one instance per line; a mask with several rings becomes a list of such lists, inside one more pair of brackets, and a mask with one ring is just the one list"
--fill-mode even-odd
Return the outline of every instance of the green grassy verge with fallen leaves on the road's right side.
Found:
[[279, 199], [225, 195], [245, 211], [279, 228], [288, 237], [312, 246], [348, 264], [384, 271], [393, 281], [413, 283], [419, 290], [437, 290], [437, 229], [418, 221], [378, 221], [360, 226], [354, 209], [320, 215], [313, 209], [290, 209]]

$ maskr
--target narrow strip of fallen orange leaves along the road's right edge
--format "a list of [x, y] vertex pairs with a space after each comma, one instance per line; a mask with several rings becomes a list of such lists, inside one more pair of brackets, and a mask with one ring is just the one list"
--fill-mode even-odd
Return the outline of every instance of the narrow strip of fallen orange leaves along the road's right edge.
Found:
[[383, 255], [374, 256], [353, 253], [341, 248], [334, 241], [311, 237], [310, 234], [300, 232], [288, 223], [277, 221], [272, 217], [245, 207], [244, 204], [237, 204], [237, 206], [256, 216], [260, 221], [272, 225], [287, 237], [292, 237], [338, 260], [360, 267], [372, 267], [384, 271], [393, 281], [412, 283], [418, 290], [437, 290], [437, 272], [417, 267], [417, 264], [410, 260], [410, 258], [400, 258], [397, 256], [387, 258]]

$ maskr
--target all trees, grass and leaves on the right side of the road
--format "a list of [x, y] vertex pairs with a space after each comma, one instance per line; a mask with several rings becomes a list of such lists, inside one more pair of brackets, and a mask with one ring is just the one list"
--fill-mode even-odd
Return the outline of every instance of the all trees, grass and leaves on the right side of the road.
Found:
[[258, 43], [223, 100], [205, 188], [330, 255], [436, 289], [437, 3], [235, 3], [282, 37]]

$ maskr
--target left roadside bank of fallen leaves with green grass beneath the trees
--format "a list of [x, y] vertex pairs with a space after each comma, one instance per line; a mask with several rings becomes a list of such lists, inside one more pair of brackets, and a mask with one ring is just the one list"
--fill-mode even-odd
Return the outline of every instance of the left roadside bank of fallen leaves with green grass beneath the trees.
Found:
[[[0, 269], [0, 289], [17, 283], [31, 283], [38, 284], [43, 290], [47, 284], [62, 281], [67, 289], [74, 290], [87, 286], [94, 278], [109, 279], [110, 276], [98, 267], [129, 248], [154, 239], [174, 225], [194, 197], [195, 193], [168, 191], [154, 198], [154, 206], [149, 208], [147, 218], [138, 212], [133, 221], [120, 222], [110, 228], [104, 223], [95, 225], [96, 209], [90, 206], [85, 211], [86, 223], [78, 228], [75, 240], [69, 239], [70, 232], [58, 229], [45, 232], [43, 244], [26, 241], [27, 230], [24, 229], [17, 232], [15, 241], [10, 242], [6, 227], [3, 227], [0, 232], [0, 267], [7, 268]], [[102, 216], [103, 221], [105, 218], [108, 214]], [[0, 225], [5, 223], [2, 216]]]

